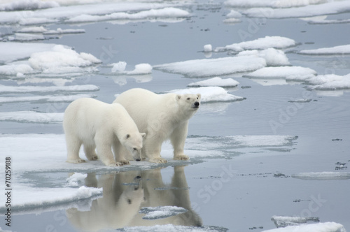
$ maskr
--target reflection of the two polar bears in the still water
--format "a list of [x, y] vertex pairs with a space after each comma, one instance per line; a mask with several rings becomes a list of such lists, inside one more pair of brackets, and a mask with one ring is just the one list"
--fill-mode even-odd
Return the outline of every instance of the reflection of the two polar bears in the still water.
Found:
[[[190, 207], [190, 196], [183, 166], [174, 167], [170, 184], [162, 181], [160, 168], [148, 171], [127, 171], [87, 175], [85, 185], [103, 187], [103, 197], [92, 201], [90, 211], [66, 210], [73, 226], [83, 231], [120, 229], [126, 226], [154, 226], [174, 224], [202, 226], [202, 219]], [[162, 219], [142, 219], [144, 207], [177, 206], [187, 212]]]

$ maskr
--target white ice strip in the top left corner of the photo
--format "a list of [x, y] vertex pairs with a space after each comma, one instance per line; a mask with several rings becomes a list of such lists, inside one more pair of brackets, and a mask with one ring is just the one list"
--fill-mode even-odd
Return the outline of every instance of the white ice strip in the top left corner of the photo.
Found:
[[0, 4], [0, 11], [38, 10], [58, 6], [56, 1], [22, 0]]

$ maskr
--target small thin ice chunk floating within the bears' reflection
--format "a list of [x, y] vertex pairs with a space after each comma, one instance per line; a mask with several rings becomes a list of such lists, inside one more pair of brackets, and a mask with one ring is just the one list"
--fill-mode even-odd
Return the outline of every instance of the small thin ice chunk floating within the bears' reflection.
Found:
[[144, 207], [139, 213], [146, 214], [142, 219], [155, 220], [172, 217], [181, 213], [187, 212], [185, 208], [177, 206], [158, 206], [158, 207]]

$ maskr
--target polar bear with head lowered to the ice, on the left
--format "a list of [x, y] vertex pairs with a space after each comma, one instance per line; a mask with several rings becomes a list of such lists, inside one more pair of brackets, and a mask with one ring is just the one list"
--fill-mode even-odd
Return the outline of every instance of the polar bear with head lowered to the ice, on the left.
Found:
[[96, 160], [98, 155], [106, 166], [129, 164], [123, 147], [132, 153], [136, 161], [141, 160], [146, 133], [139, 132], [127, 110], [120, 104], [108, 104], [89, 98], [77, 99], [64, 112], [63, 128], [69, 163], [85, 162], [79, 157], [82, 144], [87, 159]]

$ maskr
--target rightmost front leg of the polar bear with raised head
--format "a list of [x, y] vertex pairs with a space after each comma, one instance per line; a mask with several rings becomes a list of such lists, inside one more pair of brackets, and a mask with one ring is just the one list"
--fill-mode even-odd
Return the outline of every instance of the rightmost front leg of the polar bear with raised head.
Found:
[[184, 122], [180, 124], [176, 129], [174, 129], [173, 133], [170, 135], [170, 140], [174, 147], [174, 159], [177, 160], [188, 160], [188, 157], [185, 153], [183, 153], [183, 148], [185, 147], [185, 141], [187, 138], [188, 131], [188, 122]]

